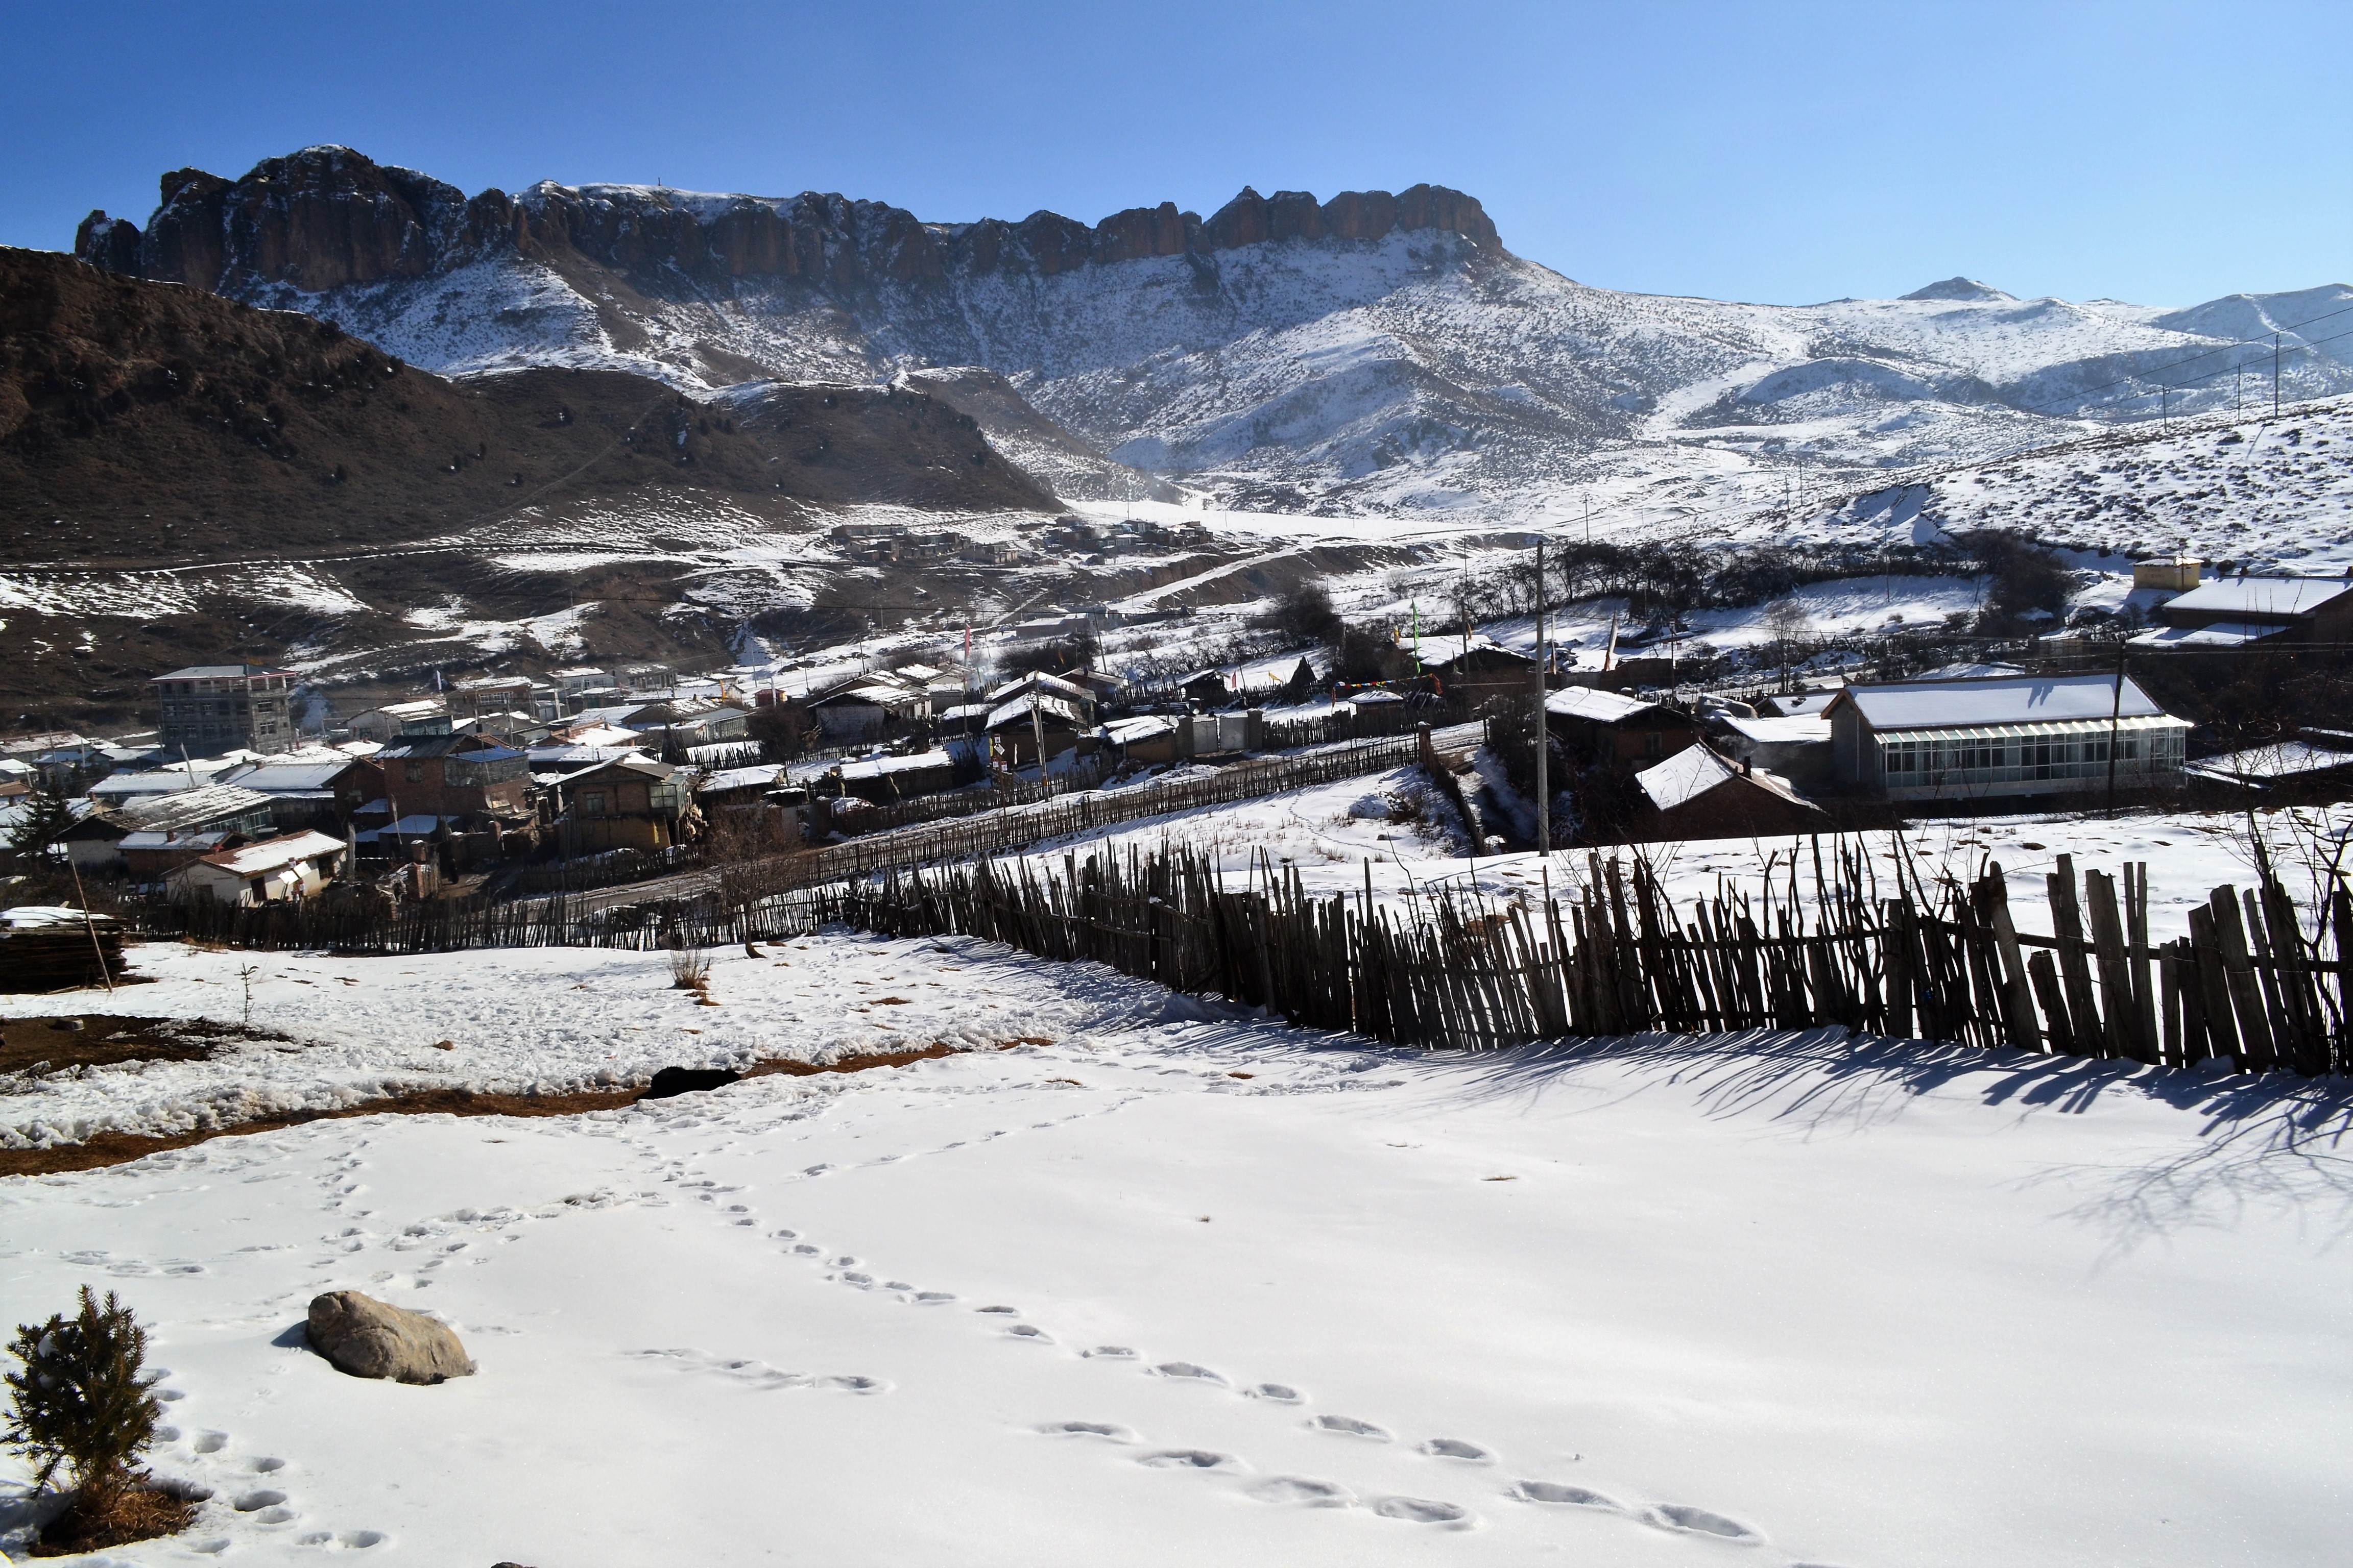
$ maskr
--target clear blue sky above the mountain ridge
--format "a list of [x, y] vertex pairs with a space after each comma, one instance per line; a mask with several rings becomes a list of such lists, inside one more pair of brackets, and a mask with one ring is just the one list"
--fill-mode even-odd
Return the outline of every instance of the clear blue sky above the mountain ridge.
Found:
[[464, 186], [840, 190], [1096, 221], [1478, 195], [1572, 277], [1800, 303], [1967, 273], [2193, 303], [2353, 280], [2353, 5], [38, 5], [0, 242], [344, 141]]

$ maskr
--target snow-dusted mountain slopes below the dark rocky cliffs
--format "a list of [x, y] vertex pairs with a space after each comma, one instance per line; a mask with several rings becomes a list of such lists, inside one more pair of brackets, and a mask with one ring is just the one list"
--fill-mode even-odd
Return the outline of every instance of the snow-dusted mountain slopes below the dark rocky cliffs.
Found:
[[715, 388], [976, 367], [1087, 449], [1014, 442], [1078, 494], [1101, 494], [1089, 475], [1111, 456], [1315, 512], [1558, 515], [1565, 496], [1638, 480], [1748, 501], [1845, 489], [2214, 411], [2257, 383], [2268, 402], [2271, 331], [2285, 334], [2287, 400], [2353, 390], [2341, 284], [2186, 310], [2021, 301], [1967, 280], [1897, 301], [1751, 306], [1595, 289], [1447, 230], [856, 289], [494, 254], [245, 296], [449, 374], [602, 364]]

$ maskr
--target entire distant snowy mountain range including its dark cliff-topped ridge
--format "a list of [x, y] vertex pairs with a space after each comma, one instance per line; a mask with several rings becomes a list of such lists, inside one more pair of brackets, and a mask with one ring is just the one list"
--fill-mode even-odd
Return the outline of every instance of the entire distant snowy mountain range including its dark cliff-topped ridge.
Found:
[[1965, 277], [1897, 301], [1666, 299], [1513, 256], [1475, 200], [1435, 186], [1242, 190], [1209, 219], [922, 223], [838, 195], [466, 197], [308, 148], [240, 181], [169, 174], [146, 230], [92, 214], [78, 254], [306, 310], [447, 374], [581, 364], [720, 388], [988, 371], [969, 411], [1073, 494], [1144, 484], [1127, 465], [1315, 512], [1558, 520], [1628, 482], [1711, 503], [1857, 489], [2268, 404], [2273, 331], [2282, 397], [2353, 390], [2346, 284], [2186, 310], [2021, 301]]

